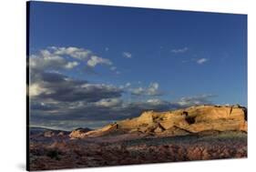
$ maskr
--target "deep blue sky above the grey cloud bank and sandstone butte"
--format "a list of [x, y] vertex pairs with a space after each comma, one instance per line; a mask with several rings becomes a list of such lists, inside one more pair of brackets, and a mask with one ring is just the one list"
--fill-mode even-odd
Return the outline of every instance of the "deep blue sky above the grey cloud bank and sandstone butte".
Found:
[[76, 47], [101, 58], [58, 54], [77, 65], [44, 72], [116, 86], [122, 102], [247, 106], [247, 15], [32, 2], [30, 31], [30, 56]]

